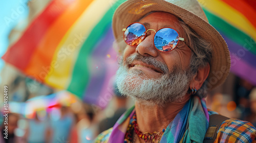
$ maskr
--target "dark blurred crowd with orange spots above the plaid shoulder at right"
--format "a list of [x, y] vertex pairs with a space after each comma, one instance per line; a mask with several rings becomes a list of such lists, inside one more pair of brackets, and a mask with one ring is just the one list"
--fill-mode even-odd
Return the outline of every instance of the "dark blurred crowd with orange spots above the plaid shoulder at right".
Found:
[[208, 93], [207, 107], [229, 118], [239, 118], [256, 126], [256, 87], [232, 74], [218, 89]]

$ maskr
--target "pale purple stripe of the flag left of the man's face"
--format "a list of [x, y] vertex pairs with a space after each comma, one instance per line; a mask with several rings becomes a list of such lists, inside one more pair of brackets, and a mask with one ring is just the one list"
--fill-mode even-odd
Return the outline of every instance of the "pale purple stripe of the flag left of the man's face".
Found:
[[89, 60], [92, 66], [90, 68], [90, 84], [83, 96], [84, 101], [102, 108], [108, 105], [114, 93], [113, 85], [110, 83], [117, 70], [116, 52], [112, 47], [113, 41], [114, 36], [110, 25], [106, 28], [106, 34], [93, 48], [92, 57]]

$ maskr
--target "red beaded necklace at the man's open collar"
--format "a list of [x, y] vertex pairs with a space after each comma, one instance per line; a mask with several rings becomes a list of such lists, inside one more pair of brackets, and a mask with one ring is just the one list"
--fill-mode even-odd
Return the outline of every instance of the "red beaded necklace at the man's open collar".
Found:
[[137, 124], [136, 113], [134, 113], [133, 117], [130, 120], [129, 126], [127, 127], [127, 130], [126, 130], [126, 133], [125, 133], [125, 138], [124, 138], [124, 143], [135, 142], [136, 135], [134, 135], [134, 138], [133, 138], [133, 133], [134, 132], [139, 137], [139, 141], [140, 141], [140, 139], [143, 139], [145, 142], [147, 142], [147, 141], [155, 142], [156, 139], [158, 137], [160, 137], [158, 139], [158, 142], [159, 142], [160, 139], [161, 139], [162, 134], [164, 133], [164, 131], [165, 131], [165, 129], [163, 129], [161, 132], [156, 132], [155, 131], [153, 133], [149, 133], [149, 132], [142, 133], [139, 130], [139, 127], [138, 127], [138, 124]]

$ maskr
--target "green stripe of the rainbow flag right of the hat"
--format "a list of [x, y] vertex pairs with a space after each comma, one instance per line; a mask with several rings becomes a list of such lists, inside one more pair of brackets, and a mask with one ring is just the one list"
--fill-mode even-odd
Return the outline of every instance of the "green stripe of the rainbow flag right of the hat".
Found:
[[[218, 31], [225, 34], [228, 38], [233, 40], [234, 42], [240, 44], [241, 46], [245, 47], [248, 51], [256, 55], [256, 43], [255, 41], [249, 37], [247, 34], [242, 32], [241, 30], [233, 27], [225, 20], [221, 19], [220, 17], [210, 13], [205, 8], [203, 8], [209, 23], [215, 27]], [[232, 47], [229, 47], [232, 48]]]

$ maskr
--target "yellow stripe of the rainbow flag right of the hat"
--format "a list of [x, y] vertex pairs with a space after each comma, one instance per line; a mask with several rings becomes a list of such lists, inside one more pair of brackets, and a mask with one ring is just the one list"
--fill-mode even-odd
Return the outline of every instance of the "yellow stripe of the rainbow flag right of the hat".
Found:
[[243, 14], [241, 14], [236, 9], [232, 8], [231, 6], [220, 0], [198, 0], [198, 2], [211, 13], [224, 19], [225, 21], [230, 23], [230, 25], [243, 31], [248, 36], [256, 40], [255, 27]]

